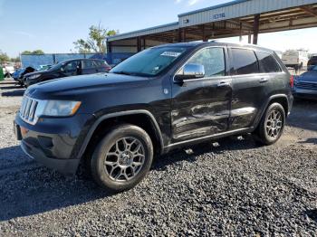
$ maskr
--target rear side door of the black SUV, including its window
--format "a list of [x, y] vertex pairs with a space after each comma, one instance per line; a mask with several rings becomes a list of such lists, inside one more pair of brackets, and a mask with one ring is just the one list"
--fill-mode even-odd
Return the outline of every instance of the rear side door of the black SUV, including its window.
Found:
[[230, 130], [253, 126], [256, 115], [268, 98], [271, 75], [261, 73], [255, 51], [229, 48], [232, 65], [233, 100], [231, 104]]

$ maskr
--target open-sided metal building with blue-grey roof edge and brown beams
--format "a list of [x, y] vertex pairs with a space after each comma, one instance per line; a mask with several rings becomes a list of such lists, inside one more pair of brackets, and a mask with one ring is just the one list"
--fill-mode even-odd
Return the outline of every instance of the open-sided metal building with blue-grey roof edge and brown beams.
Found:
[[[178, 14], [178, 22], [108, 37], [109, 52], [139, 52], [161, 43], [207, 41], [317, 26], [317, 0], [235, 0]], [[316, 35], [317, 36], [317, 35]]]

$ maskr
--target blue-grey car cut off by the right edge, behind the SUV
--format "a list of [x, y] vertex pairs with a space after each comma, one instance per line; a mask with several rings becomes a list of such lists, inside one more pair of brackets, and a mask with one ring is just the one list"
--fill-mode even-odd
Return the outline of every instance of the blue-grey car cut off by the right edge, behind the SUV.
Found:
[[295, 78], [293, 96], [299, 99], [317, 100], [317, 65]]

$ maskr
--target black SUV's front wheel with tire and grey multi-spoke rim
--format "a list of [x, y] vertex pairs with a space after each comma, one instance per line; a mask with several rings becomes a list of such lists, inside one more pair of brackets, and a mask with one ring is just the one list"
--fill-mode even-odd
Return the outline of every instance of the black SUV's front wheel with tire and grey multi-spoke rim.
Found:
[[110, 192], [128, 190], [148, 174], [153, 145], [147, 132], [124, 124], [110, 129], [93, 152], [91, 175]]

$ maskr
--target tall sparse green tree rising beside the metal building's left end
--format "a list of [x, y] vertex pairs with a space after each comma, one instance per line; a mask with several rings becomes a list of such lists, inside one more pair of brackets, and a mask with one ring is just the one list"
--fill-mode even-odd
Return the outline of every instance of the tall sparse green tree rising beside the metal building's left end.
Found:
[[91, 25], [89, 28], [89, 37], [87, 40], [79, 39], [73, 44], [78, 52], [106, 52], [106, 38], [115, 35], [119, 31], [104, 29], [101, 24]]

